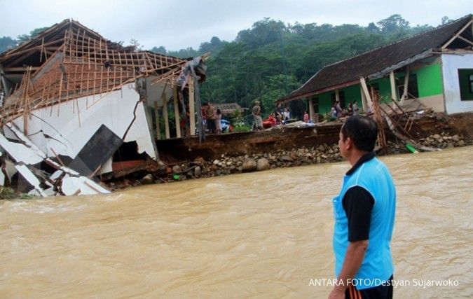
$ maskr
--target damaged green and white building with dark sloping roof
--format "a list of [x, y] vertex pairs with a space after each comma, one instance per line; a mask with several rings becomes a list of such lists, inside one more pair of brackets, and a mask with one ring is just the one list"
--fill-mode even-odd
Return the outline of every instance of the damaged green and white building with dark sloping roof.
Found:
[[467, 15], [336, 62], [277, 102], [306, 99], [312, 120], [329, 113], [334, 102], [346, 107], [356, 101], [364, 111], [373, 111], [373, 97], [387, 111], [388, 103], [397, 111], [473, 111], [472, 24], [472, 15]]

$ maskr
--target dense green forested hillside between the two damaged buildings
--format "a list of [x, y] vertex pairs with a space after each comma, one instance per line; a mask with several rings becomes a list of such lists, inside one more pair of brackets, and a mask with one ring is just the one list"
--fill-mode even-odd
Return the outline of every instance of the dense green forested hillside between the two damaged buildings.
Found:
[[[251, 29], [239, 32], [235, 41], [222, 42], [219, 52], [207, 60], [201, 95], [211, 102], [236, 102], [249, 109], [259, 99], [263, 113], [270, 113], [275, 99], [299, 88], [328, 64], [431, 28], [411, 28], [400, 15], [377, 24], [285, 25], [268, 18], [255, 22]], [[296, 102], [290, 106], [299, 118], [306, 109]]]

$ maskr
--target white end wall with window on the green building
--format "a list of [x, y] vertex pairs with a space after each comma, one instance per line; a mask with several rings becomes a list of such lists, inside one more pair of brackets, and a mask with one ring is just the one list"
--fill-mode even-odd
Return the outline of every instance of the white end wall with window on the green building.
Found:
[[473, 53], [463, 55], [442, 54], [442, 76], [446, 113], [473, 111], [473, 101], [462, 101], [458, 69], [473, 69]]

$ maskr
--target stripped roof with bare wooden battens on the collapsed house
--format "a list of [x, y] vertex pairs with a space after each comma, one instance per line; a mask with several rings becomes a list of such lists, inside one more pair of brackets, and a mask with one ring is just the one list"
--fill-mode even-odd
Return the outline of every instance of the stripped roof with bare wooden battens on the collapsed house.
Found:
[[[123, 47], [64, 20], [0, 55], [2, 76], [20, 83], [7, 93], [0, 125], [33, 109], [118, 90], [145, 76], [179, 84], [176, 79], [189, 60]], [[198, 75], [205, 79], [205, 71]]]

